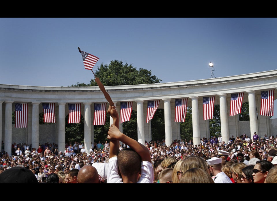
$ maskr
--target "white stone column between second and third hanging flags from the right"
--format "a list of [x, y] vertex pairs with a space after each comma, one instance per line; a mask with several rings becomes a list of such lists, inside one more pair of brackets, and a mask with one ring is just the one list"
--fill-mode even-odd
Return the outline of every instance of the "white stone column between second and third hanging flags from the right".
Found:
[[221, 124], [221, 137], [222, 141], [228, 143], [229, 141], [229, 124], [228, 124], [228, 112], [226, 104], [227, 94], [218, 94], [220, 105], [220, 124]]

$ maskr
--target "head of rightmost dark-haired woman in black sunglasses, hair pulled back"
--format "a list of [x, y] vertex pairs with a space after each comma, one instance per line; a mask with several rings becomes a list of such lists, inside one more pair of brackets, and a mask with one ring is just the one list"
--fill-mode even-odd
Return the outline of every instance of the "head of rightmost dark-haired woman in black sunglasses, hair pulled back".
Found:
[[267, 177], [267, 173], [274, 165], [267, 160], [259, 160], [254, 166], [253, 180], [254, 183], [264, 183]]

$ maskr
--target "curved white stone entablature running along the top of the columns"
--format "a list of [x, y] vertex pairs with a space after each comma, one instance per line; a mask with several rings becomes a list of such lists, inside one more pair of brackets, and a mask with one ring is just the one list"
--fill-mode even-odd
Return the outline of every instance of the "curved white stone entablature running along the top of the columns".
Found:
[[[211, 96], [217, 94], [259, 91], [277, 87], [277, 70], [157, 84], [105, 86], [114, 102]], [[0, 84], [0, 100], [20, 102], [107, 102], [96, 87], [50, 87]], [[247, 100], [244, 100], [244, 102]]]

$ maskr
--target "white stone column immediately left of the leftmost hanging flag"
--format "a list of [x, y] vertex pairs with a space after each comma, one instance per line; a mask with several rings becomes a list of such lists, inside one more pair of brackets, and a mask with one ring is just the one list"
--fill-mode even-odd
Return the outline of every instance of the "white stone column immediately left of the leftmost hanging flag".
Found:
[[4, 151], [12, 156], [12, 101], [5, 101], [5, 138]]

